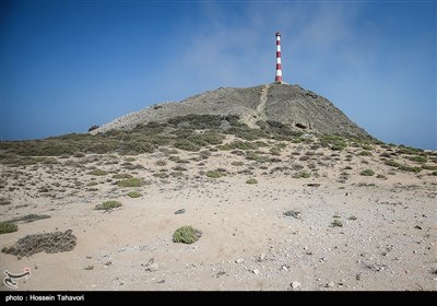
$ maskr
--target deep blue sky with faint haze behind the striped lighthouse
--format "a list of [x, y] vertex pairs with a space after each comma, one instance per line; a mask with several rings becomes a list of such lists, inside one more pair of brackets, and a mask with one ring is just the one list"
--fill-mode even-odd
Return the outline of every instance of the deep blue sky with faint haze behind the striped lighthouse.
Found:
[[437, 150], [435, 1], [2, 1], [1, 140], [85, 132], [284, 81], [376, 138]]

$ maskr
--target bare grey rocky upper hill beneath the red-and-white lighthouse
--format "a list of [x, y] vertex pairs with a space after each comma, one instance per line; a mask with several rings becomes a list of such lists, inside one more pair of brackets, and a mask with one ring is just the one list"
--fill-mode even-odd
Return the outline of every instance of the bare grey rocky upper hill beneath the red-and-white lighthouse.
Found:
[[105, 123], [92, 133], [130, 130], [140, 123], [165, 122], [187, 115], [236, 116], [249, 128], [284, 125], [296, 132], [371, 139], [327, 98], [298, 85], [277, 83], [220, 87], [181, 102], [155, 104]]

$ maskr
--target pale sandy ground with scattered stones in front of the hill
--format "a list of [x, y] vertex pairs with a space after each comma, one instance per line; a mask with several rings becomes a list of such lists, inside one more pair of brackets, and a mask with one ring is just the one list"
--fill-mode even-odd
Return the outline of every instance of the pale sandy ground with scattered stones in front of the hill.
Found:
[[[1, 248], [55, 231], [72, 229], [78, 239], [71, 251], [2, 252], [0, 270], [31, 268], [29, 279], [17, 280], [24, 291], [436, 291], [437, 177], [385, 165], [386, 150], [375, 145], [373, 155], [359, 156], [358, 148], [290, 143], [279, 156], [265, 154], [281, 161], [267, 163], [229, 151], [205, 160], [164, 151], [2, 165], [1, 221], [50, 217], [19, 222], [17, 232], [0, 236]], [[189, 163], [170, 161], [175, 155]], [[95, 168], [107, 174], [92, 175]], [[204, 175], [216, 168], [227, 175]], [[376, 174], [359, 175], [366, 168]], [[302, 170], [311, 176], [294, 178]], [[147, 184], [118, 187], [113, 176], [121, 173]], [[258, 184], [246, 184], [249, 178]], [[128, 197], [132, 190], [142, 196]], [[94, 209], [106, 200], [122, 207]], [[186, 212], [175, 214], [179, 209]], [[333, 226], [335, 220], [343, 226]], [[200, 239], [174, 243], [182, 225], [199, 228]], [[157, 264], [147, 269], [152, 258]], [[0, 290], [11, 289], [2, 283]]]

